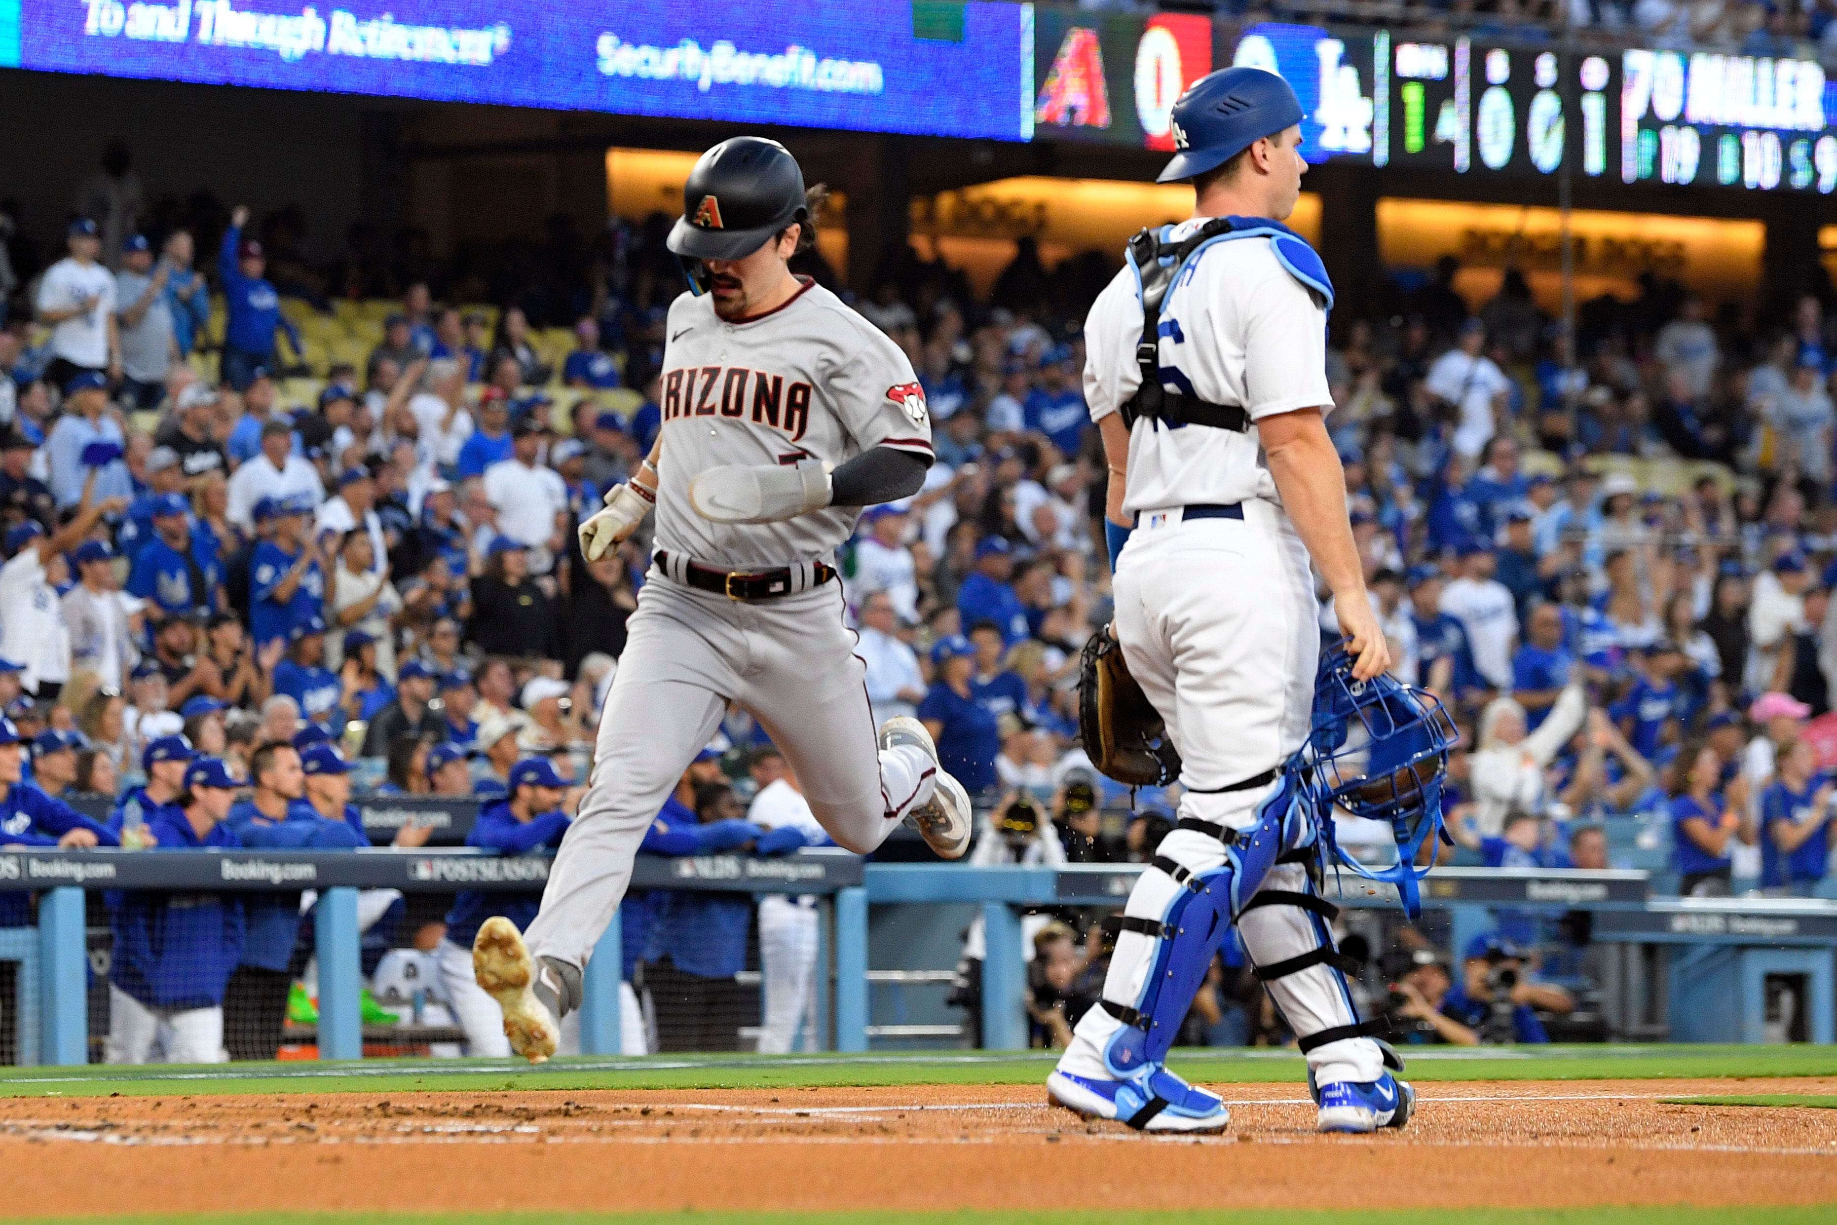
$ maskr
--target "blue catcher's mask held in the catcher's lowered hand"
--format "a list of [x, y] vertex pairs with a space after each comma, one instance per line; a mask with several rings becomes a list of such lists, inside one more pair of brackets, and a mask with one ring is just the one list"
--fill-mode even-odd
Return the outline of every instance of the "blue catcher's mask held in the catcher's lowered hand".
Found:
[[[1313, 681], [1313, 725], [1301, 751], [1302, 786], [1335, 861], [1352, 872], [1396, 885], [1403, 909], [1422, 911], [1416, 882], [1433, 861], [1416, 867], [1422, 845], [1442, 832], [1442, 779], [1448, 751], [1460, 740], [1435, 694], [1392, 676], [1352, 676], [1345, 645], [1321, 654]], [[1334, 808], [1381, 821], [1396, 837], [1398, 861], [1370, 869], [1339, 849]]]

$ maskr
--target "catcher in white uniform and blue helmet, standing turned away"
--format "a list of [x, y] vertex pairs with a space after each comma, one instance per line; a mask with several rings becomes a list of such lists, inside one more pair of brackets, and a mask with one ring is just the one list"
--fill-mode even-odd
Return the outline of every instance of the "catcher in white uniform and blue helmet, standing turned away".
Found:
[[[1402, 1126], [1407, 1085], [1365, 1034], [1302, 867], [1312, 825], [1284, 764], [1308, 736], [1319, 654], [1310, 558], [1365, 681], [1389, 667], [1328, 439], [1332, 285], [1279, 219], [1301, 193], [1301, 103], [1227, 68], [1174, 105], [1192, 219], [1130, 242], [1086, 320], [1086, 399], [1110, 465], [1106, 534], [1130, 670], [1183, 762], [1178, 828], [1130, 894], [1100, 1006], [1047, 1080], [1084, 1115], [1216, 1131], [1218, 1096], [1163, 1067], [1236, 922], [1306, 1052], [1319, 1128]], [[1144, 378], [1143, 375], [1148, 375]], [[1133, 531], [1132, 531], [1133, 529]]]

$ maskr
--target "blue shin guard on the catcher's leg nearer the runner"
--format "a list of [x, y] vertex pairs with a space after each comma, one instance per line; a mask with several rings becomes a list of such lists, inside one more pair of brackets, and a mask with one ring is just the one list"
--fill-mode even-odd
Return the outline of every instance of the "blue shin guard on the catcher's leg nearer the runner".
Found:
[[[1227, 830], [1183, 819], [1161, 843], [1130, 894], [1128, 909], [1137, 913], [1124, 913], [1115, 924], [1119, 933], [1152, 940], [1154, 951], [1135, 999], [1124, 1003], [1106, 995], [1100, 1001], [1122, 1023], [1104, 1047], [1104, 1067], [1113, 1076], [1128, 1080], [1144, 1067], [1159, 1067], [1231, 920], [1277, 856], [1308, 839], [1312, 823], [1293, 779], [1284, 773], [1280, 786], [1257, 804], [1249, 826]], [[1139, 913], [1144, 909], [1150, 913]]]

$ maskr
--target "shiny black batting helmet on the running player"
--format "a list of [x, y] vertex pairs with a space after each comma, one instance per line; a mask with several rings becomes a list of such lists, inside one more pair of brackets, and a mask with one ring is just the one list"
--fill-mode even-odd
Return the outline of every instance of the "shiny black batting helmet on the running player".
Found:
[[694, 163], [669, 248], [687, 259], [740, 259], [794, 220], [808, 220], [803, 171], [775, 140], [735, 136]]

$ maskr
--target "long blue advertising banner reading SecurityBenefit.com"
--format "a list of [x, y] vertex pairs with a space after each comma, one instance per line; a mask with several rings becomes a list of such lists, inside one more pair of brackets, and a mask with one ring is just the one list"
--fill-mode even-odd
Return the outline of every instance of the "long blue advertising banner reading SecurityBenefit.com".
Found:
[[[1027, 140], [1031, 9], [718, 0], [0, 0], [13, 64], [551, 110]], [[0, 22], [4, 24], [4, 22]], [[0, 64], [7, 62], [0, 39]]]

